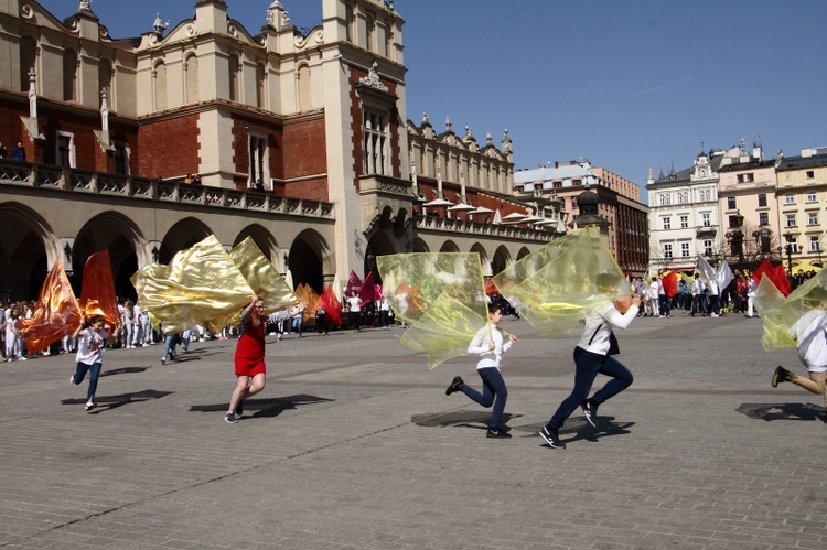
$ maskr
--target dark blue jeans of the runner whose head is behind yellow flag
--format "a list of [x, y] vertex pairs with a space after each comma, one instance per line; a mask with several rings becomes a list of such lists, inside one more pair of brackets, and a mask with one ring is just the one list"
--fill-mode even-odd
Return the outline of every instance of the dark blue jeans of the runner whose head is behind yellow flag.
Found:
[[611, 355], [593, 354], [578, 346], [574, 348], [574, 389], [562, 400], [555, 416], [548, 421], [549, 430], [559, 430], [566, 419], [589, 397], [591, 385], [594, 384], [598, 373], [612, 377], [592, 396], [592, 400], [598, 405], [604, 403], [629, 388], [634, 381], [632, 373]]

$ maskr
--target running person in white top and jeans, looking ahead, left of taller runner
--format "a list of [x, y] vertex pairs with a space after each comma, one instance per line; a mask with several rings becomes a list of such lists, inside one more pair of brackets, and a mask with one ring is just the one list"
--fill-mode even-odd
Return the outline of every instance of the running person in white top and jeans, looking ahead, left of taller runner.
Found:
[[491, 421], [488, 422], [488, 430], [485, 432], [486, 438], [512, 436], [506, 431], [507, 429], [502, 425], [505, 401], [508, 399], [508, 388], [505, 387], [500, 365], [503, 360], [503, 354], [511, 349], [512, 345], [517, 342], [517, 337], [509, 334], [508, 342], [504, 342], [503, 333], [497, 327], [502, 320], [503, 311], [500, 305], [490, 305], [488, 323], [476, 332], [471, 344], [468, 346], [470, 355], [482, 356], [480, 363], [476, 364], [476, 374], [483, 379], [482, 393], [469, 387], [459, 376], [454, 377], [445, 390], [447, 396], [450, 396], [454, 391], [462, 391], [485, 408], [494, 405]]

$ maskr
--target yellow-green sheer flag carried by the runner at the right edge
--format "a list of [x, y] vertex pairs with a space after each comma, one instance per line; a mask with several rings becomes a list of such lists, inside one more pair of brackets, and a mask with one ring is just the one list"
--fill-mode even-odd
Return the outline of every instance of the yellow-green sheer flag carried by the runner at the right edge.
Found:
[[826, 305], [827, 273], [824, 271], [816, 273], [786, 298], [769, 277], [762, 277], [755, 291], [755, 309], [763, 321], [761, 344], [764, 349], [772, 352], [795, 347], [796, 341], [790, 330], [804, 315], [816, 309], [824, 310]]

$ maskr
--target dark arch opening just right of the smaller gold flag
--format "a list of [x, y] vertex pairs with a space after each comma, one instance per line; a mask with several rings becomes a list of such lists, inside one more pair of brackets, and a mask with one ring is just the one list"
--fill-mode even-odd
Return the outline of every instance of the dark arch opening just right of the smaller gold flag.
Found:
[[316, 294], [324, 292], [325, 284], [333, 282], [336, 273], [333, 252], [324, 237], [314, 229], [305, 229], [296, 236], [290, 254], [284, 254], [284, 270], [288, 269], [293, 289], [304, 283]]

